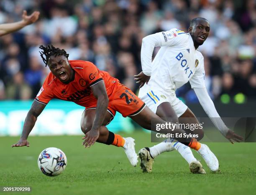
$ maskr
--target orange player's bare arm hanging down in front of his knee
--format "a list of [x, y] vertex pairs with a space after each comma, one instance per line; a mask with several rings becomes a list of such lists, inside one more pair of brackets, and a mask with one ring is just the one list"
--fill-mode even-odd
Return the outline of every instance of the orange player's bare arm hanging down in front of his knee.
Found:
[[92, 129], [83, 137], [84, 147], [93, 145], [99, 137], [100, 126], [102, 125], [108, 109], [108, 94], [104, 81], [91, 86], [93, 95], [97, 98], [97, 109]]

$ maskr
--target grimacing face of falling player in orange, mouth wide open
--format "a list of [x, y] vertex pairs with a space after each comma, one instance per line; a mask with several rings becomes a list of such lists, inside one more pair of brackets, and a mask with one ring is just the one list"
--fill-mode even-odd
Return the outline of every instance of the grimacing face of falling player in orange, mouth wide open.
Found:
[[72, 80], [73, 70], [69, 65], [66, 56], [50, 56], [47, 65], [54, 76], [62, 83], [68, 83]]

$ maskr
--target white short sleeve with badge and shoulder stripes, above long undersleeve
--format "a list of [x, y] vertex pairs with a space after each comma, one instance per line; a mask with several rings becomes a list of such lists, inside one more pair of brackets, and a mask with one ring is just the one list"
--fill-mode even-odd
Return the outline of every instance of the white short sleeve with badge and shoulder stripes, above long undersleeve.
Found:
[[182, 30], [173, 28], [168, 31], [156, 33], [160, 38], [159, 46], [176, 46], [186, 42], [189, 35]]

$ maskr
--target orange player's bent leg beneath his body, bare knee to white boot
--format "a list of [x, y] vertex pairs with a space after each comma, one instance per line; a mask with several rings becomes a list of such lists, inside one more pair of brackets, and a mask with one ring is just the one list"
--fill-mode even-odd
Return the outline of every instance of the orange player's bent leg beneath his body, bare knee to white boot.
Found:
[[[81, 129], [84, 134], [89, 132], [92, 128], [93, 121], [95, 119], [96, 109], [86, 109], [81, 118]], [[113, 115], [110, 112], [107, 112], [106, 117], [104, 119], [103, 125], [100, 127], [100, 134], [97, 142], [114, 145], [117, 147], [123, 147], [125, 154], [128, 157], [128, 160], [131, 162], [131, 165], [135, 167], [138, 163], [138, 156], [134, 149], [134, 139], [131, 137], [123, 138], [118, 134], [114, 134], [110, 132], [105, 125], [110, 123], [113, 119]]]

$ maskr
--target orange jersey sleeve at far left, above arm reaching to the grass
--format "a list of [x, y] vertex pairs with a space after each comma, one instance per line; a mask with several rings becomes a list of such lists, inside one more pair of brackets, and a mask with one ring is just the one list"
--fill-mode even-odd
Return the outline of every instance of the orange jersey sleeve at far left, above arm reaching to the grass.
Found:
[[41, 87], [38, 94], [36, 95], [36, 98], [35, 98], [36, 101], [39, 101], [40, 103], [43, 103], [43, 104], [48, 104], [48, 102], [54, 98], [54, 95], [52, 94], [49, 86], [53, 80], [54, 80], [54, 77], [50, 73], [46, 77], [43, 86]]

